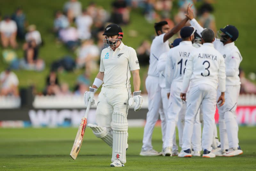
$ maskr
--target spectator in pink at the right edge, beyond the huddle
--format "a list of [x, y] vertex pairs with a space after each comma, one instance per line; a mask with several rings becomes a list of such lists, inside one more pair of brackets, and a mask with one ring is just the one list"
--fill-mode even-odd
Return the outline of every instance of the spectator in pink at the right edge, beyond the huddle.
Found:
[[239, 77], [241, 82], [240, 93], [256, 93], [256, 85], [245, 78], [245, 72], [239, 68]]

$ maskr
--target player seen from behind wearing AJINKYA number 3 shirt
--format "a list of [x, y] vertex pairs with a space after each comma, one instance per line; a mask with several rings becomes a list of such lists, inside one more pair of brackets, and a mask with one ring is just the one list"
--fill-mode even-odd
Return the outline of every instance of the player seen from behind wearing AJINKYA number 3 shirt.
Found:
[[203, 46], [197, 48], [188, 57], [186, 72], [182, 82], [180, 97], [186, 100], [188, 86], [190, 86], [187, 111], [185, 115], [185, 127], [182, 138], [182, 151], [179, 157], [191, 157], [191, 137], [193, 123], [202, 104], [203, 112], [203, 135], [202, 148], [203, 157], [214, 158], [212, 151], [214, 113], [216, 110], [217, 87], [221, 95], [218, 102], [220, 105], [225, 102], [225, 61], [220, 52], [214, 49], [214, 32], [211, 29], [204, 29], [202, 32]]

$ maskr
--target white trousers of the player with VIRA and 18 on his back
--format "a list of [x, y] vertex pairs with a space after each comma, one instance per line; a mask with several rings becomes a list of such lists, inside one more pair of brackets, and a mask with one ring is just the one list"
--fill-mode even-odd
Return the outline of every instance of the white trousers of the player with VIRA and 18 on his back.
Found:
[[[167, 129], [166, 129], [166, 139], [164, 141], [165, 147], [172, 147], [174, 145], [172, 142], [172, 137], [175, 136], [175, 126], [178, 125], [179, 132], [179, 145], [182, 146], [182, 136], [184, 129], [184, 120], [186, 113], [187, 103], [182, 101], [180, 98], [182, 82], [172, 82], [171, 92], [169, 98], [169, 107], [167, 111]], [[178, 122], [178, 123], [177, 123]], [[196, 117], [192, 145], [195, 151], [201, 151], [201, 123], [199, 120], [199, 114]]]

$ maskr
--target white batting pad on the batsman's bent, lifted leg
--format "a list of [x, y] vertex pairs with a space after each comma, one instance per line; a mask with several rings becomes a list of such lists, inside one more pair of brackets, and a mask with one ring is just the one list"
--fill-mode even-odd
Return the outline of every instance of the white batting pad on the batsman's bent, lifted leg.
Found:
[[94, 124], [87, 124], [88, 127], [92, 129], [93, 134], [97, 138], [101, 138], [105, 143], [107, 143], [111, 148], [113, 146], [113, 135], [110, 128], [100, 127]]

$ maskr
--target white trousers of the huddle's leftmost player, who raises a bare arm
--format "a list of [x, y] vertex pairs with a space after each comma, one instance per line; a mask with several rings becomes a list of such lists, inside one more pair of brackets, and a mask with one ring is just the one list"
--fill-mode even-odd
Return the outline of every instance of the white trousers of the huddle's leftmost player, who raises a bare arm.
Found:
[[144, 128], [142, 148], [144, 150], [151, 150], [153, 149], [151, 142], [153, 129], [155, 127], [156, 121], [158, 120], [159, 114], [161, 115], [160, 119], [165, 118], [164, 112], [159, 113], [160, 107], [163, 106], [161, 87], [159, 86], [159, 77], [148, 75], [146, 78], [146, 89], [148, 91], [148, 113]]

